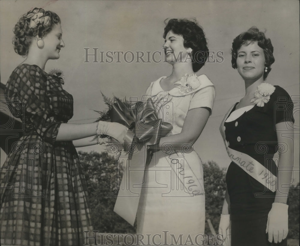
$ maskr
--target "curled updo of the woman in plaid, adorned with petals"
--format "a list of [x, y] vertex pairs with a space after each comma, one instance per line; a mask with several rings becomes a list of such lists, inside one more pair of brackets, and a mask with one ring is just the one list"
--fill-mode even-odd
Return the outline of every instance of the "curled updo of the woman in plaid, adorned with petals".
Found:
[[[49, 16], [48, 25], [44, 25], [44, 22], [38, 23], [35, 27], [30, 27], [30, 18], [27, 16], [31, 13], [43, 13], [43, 16]], [[13, 28], [13, 33], [15, 36], [13, 37], [13, 46], [14, 50], [17, 54], [26, 56], [28, 55], [29, 46], [32, 43], [32, 40], [37, 35], [39, 37], [46, 36], [50, 31], [52, 31], [54, 25], [60, 24], [61, 20], [59, 16], [51, 11], [45, 11], [42, 8], [34, 8], [30, 10], [28, 13], [24, 14], [20, 17], [19, 21], [16, 23]]]

